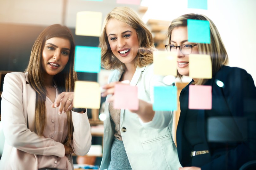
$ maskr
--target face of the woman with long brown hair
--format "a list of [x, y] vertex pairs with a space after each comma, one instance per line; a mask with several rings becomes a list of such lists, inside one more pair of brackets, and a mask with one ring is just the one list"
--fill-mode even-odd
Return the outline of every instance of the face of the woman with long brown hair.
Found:
[[70, 48], [70, 42], [66, 38], [53, 37], [46, 40], [41, 58], [46, 75], [54, 76], [65, 68]]

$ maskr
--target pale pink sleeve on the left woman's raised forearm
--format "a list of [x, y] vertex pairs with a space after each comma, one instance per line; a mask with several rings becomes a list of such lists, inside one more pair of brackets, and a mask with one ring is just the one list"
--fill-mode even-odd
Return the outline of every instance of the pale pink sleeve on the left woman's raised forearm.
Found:
[[74, 126], [72, 149], [75, 154], [84, 156], [91, 148], [91, 126], [85, 113], [72, 111], [72, 122]]

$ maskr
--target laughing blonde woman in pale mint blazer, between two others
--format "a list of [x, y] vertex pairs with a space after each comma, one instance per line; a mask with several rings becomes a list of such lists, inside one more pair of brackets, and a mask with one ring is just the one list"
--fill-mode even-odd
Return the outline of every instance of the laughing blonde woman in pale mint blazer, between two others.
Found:
[[[114, 69], [102, 93], [107, 119], [100, 169], [178, 169], [173, 113], [152, 109], [153, 86], [164, 84], [153, 75], [155, 48], [145, 23], [134, 10], [115, 8], [105, 18], [99, 46], [103, 67]], [[138, 87], [139, 110], [113, 108], [114, 85], [123, 80]]]

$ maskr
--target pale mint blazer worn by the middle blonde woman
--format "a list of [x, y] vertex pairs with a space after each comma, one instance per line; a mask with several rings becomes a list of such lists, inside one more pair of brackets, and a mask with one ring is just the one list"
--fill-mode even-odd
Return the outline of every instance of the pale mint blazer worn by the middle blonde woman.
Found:
[[[115, 70], [109, 82], [119, 81], [122, 71]], [[153, 87], [164, 86], [162, 76], [153, 75], [153, 65], [137, 67], [130, 85], [138, 87], [138, 98], [153, 103]], [[110, 95], [107, 96], [107, 99]], [[125, 96], [124, 96], [125, 97]], [[104, 121], [104, 147], [100, 170], [107, 169], [114, 139], [111, 127], [109, 103], [106, 103]], [[155, 111], [153, 120], [143, 123], [137, 114], [121, 110], [120, 131], [123, 144], [133, 170], [178, 169], [177, 148], [172, 140], [172, 119], [170, 111]], [[122, 128], [126, 128], [126, 132]]]

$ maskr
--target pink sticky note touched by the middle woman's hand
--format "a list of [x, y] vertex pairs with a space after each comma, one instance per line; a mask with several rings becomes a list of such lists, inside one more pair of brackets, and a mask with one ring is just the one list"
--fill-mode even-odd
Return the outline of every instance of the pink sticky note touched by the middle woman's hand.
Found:
[[129, 84], [116, 84], [114, 109], [138, 110], [138, 87]]

